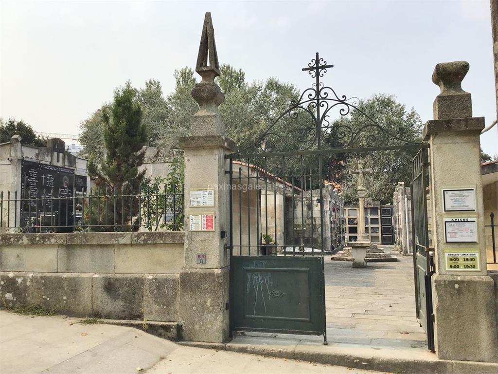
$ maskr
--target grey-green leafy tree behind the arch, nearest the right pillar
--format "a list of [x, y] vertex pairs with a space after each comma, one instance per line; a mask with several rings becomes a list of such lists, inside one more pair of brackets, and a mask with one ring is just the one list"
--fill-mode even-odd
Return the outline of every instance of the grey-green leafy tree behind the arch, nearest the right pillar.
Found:
[[[396, 101], [392, 95], [376, 94], [358, 105], [363, 112], [390, 134], [386, 135], [389, 145], [401, 145], [406, 142], [418, 143], [421, 141], [422, 122], [417, 112], [411, 108], [407, 110], [403, 104]], [[351, 114], [335, 122], [335, 124], [350, 126], [355, 132], [371, 121], [360, 111], [353, 110]], [[357, 146], [366, 146], [369, 133], [360, 137]], [[379, 136], [379, 133], [377, 133]], [[398, 139], [396, 139], [398, 138]], [[377, 138], [379, 139], [379, 138]], [[373, 169], [373, 173], [365, 178], [367, 197], [373, 201], [387, 204], [392, 201], [392, 193], [398, 182], [410, 185], [411, 160], [416, 151], [374, 151], [366, 154], [354, 154], [347, 157], [344, 175], [342, 176], [342, 190], [345, 204], [356, 204], [358, 195], [356, 179], [353, 171], [358, 168], [358, 160], [365, 161], [365, 168]]]

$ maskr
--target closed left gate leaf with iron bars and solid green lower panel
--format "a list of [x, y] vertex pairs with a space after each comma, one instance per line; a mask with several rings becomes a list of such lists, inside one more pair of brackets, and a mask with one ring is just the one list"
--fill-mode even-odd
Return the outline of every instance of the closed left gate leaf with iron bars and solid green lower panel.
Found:
[[230, 159], [232, 331], [327, 341], [320, 160]]

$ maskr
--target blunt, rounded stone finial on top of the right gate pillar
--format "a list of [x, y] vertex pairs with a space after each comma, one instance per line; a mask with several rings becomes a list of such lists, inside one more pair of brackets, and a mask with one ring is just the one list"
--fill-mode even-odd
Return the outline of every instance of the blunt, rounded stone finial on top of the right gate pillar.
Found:
[[441, 93], [434, 100], [434, 119], [472, 117], [471, 94], [462, 89], [462, 80], [469, 71], [467, 61], [440, 62], [434, 68], [432, 81]]

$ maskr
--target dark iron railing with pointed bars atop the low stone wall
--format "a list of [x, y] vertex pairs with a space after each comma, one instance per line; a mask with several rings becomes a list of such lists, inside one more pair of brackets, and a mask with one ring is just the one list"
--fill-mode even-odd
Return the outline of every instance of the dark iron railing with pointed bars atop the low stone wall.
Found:
[[183, 230], [183, 187], [0, 192], [0, 232]]

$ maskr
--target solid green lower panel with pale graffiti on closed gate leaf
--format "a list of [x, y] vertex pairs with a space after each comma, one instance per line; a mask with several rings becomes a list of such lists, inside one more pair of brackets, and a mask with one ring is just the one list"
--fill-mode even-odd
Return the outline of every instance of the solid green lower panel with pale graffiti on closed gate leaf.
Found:
[[322, 256], [232, 256], [232, 330], [325, 334]]

